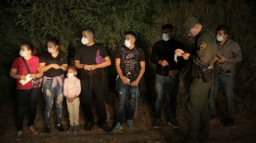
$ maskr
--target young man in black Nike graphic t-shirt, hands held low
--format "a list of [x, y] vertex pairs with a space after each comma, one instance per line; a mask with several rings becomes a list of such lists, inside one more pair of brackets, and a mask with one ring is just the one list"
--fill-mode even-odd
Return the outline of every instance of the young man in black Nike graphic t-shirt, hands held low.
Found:
[[125, 47], [120, 47], [116, 52], [116, 70], [119, 74], [118, 96], [119, 104], [117, 109], [117, 123], [113, 131], [122, 129], [122, 116], [126, 101], [126, 93], [129, 93], [129, 111], [127, 115], [127, 125], [129, 129], [134, 128], [132, 118], [136, 105], [137, 85], [145, 72], [145, 56], [142, 49], [135, 46], [135, 33], [125, 33]]

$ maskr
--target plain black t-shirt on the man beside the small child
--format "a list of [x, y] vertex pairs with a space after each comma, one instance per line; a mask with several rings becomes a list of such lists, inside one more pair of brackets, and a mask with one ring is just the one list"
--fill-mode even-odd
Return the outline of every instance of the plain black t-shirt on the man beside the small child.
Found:
[[[86, 46], [86, 45], [80, 45], [76, 49], [76, 55], [75, 55], [75, 60], [79, 60], [80, 64], [87, 64], [87, 65], [92, 65], [92, 64], [97, 64], [96, 58], [99, 58], [99, 55], [101, 58], [106, 58], [109, 57], [109, 54], [107, 53], [107, 50], [105, 47], [103, 47], [102, 44], [95, 43], [91, 46]], [[89, 73], [90, 71], [85, 71], [82, 69], [81, 73], [81, 79], [83, 78], [84, 73]], [[95, 69], [92, 71], [93, 73], [93, 79], [102, 79], [102, 69]]]

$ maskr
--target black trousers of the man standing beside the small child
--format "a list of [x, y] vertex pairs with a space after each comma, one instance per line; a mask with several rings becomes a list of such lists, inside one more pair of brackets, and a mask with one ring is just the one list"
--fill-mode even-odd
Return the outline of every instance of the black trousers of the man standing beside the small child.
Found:
[[92, 104], [95, 99], [96, 112], [99, 116], [99, 124], [103, 124], [107, 120], [106, 106], [105, 106], [105, 91], [101, 80], [92, 81], [92, 91], [90, 91], [90, 82], [81, 78], [81, 98], [80, 105], [85, 114], [86, 121], [94, 122], [94, 115], [92, 112]]

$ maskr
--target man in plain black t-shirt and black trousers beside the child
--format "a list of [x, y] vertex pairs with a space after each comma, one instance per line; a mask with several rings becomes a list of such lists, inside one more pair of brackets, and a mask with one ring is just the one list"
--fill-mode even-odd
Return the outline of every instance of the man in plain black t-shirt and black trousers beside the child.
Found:
[[99, 126], [106, 132], [111, 129], [107, 125], [106, 107], [104, 103], [105, 93], [102, 85], [101, 68], [111, 65], [106, 49], [94, 42], [94, 30], [85, 28], [82, 30], [82, 44], [76, 50], [75, 66], [81, 71], [81, 106], [85, 113], [85, 130], [90, 131], [94, 123], [92, 102], [96, 100]]

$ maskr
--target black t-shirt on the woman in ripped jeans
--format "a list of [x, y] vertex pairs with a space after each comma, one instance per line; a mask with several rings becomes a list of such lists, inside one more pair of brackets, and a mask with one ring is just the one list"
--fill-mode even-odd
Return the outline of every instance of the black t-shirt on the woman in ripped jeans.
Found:
[[[49, 64], [67, 64], [67, 54], [60, 51], [58, 52], [57, 57], [52, 57], [52, 54], [49, 52], [42, 53], [39, 59], [39, 63], [45, 63], [45, 65]], [[43, 72], [44, 76], [47, 77], [55, 77], [55, 76], [60, 76], [64, 73], [62, 69], [55, 69], [55, 68], [50, 68], [46, 72]]]

